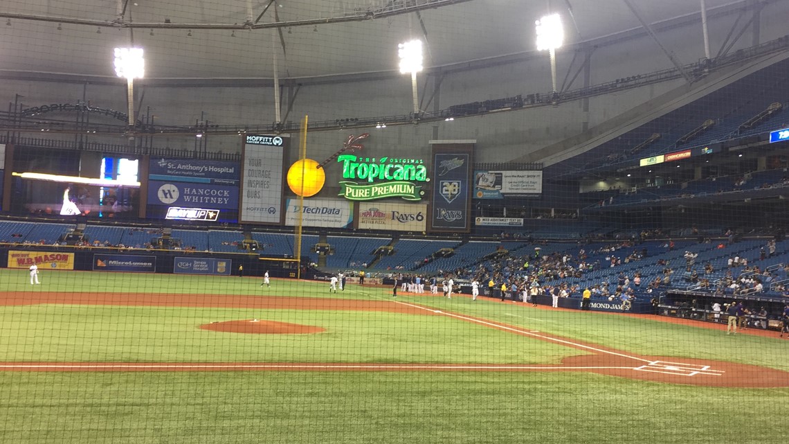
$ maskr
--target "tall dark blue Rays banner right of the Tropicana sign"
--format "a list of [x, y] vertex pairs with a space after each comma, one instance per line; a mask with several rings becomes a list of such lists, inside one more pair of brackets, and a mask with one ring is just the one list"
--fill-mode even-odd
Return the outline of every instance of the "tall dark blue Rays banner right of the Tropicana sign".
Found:
[[431, 229], [468, 231], [472, 152], [473, 145], [433, 145]]

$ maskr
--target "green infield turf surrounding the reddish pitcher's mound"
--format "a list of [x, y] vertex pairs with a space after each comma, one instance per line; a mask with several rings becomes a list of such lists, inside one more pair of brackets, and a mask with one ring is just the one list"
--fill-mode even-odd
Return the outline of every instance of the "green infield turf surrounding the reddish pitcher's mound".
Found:
[[[199, 329], [260, 318], [323, 333]], [[0, 361], [559, 363], [583, 352], [453, 318], [383, 311], [44, 304], [0, 307]]]

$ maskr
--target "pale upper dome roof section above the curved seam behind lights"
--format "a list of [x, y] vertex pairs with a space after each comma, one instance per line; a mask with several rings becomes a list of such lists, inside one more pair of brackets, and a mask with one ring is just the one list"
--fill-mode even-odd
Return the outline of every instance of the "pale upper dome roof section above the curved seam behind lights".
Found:
[[[462, 67], [536, 52], [548, 3], [567, 44], [643, 36], [639, 17], [701, 20], [689, 0], [6, 0], [0, 74], [114, 77], [112, 48], [130, 43], [145, 48], [148, 78], [271, 78], [274, 63], [282, 78], [391, 73], [412, 37], [426, 41], [428, 69]], [[752, 3], [706, 0], [711, 15]]]

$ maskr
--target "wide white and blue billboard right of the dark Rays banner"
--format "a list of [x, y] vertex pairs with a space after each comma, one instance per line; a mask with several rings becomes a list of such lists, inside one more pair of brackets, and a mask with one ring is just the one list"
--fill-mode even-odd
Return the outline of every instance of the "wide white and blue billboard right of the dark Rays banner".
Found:
[[474, 198], [528, 198], [540, 194], [542, 171], [474, 171]]

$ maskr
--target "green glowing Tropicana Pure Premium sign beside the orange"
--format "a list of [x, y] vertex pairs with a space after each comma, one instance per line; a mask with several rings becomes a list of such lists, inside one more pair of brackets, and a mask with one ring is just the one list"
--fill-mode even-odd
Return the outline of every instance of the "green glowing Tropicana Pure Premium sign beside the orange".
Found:
[[[337, 161], [342, 164], [342, 179], [355, 179], [368, 183], [340, 182], [339, 195], [350, 201], [372, 201], [383, 198], [403, 198], [420, 201], [424, 191], [414, 182], [430, 182], [428, 168], [422, 160], [380, 157], [357, 157], [342, 154]], [[379, 181], [379, 182], [376, 182]]]

